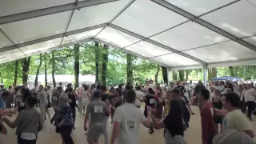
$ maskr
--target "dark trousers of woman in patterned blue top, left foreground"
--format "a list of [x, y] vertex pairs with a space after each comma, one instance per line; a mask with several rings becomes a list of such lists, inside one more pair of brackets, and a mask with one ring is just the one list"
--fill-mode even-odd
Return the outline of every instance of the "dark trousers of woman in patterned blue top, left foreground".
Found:
[[62, 126], [62, 130], [60, 132], [62, 136], [62, 141], [65, 144], [74, 144], [73, 138], [71, 137], [73, 126]]

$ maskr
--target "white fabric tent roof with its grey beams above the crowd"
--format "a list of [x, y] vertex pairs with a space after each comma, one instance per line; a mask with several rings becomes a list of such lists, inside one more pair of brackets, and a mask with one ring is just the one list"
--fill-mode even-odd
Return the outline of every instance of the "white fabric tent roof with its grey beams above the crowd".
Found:
[[98, 41], [172, 70], [256, 64], [256, 0], [0, 0], [0, 63]]

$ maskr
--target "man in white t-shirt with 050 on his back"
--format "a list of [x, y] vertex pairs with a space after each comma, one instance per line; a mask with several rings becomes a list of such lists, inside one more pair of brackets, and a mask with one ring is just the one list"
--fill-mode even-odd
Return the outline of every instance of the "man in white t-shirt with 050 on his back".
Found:
[[138, 144], [140, 124], [142, 123], [144, 126], [150, 127], [152, 108], [147, 106], [147, 118], [145, 118], [142, 110], [134, 106], [135, 97], [134, 90], [127, 90], [126, 102], [115, 110], [110, 144], [114, 144], [117, 138], [118, 143]]

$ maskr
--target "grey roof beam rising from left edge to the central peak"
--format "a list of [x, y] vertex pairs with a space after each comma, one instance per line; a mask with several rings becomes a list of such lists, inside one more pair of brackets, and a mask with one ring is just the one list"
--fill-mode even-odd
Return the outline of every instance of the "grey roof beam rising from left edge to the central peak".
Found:
[[79, 30], [73, 30], [73, 31], [69, 31], [69, 32], [66, 32], [66, 33], [62, 33], [62, 34], [52, 35], [52, 36], [49, 36], [49, 37], [46, 37], [46, 38], [38, 38], [38, 39], [29, 41], [29, 42], [22, 42], [22, 43], [18, 43], [16, 45], [12, 45], [12, 46], [2, 47], [0, 49], [0, 52], [4, 52], [4, 51], [7, 51], [7, 50], [14, 50], [14, 49], [17, 49], [17, 48], [23, 47], [23, 46], [30, 46], [30, 45], [33, 45], [33, 44], [36, 44], [36, 43], [39, 43], [39, 42], [50, 41], [50, 40], [55, 39], [55, 38], [67, 37], [67, 36], [72, 35], [72, 34], [78, 34], [78, 33], [86, 32], [86, 31], [89, 31], [89, 30], [95, 30], [95, 29], [98, 29], [98, 28], [102, 28], [104, 26], [106, 26], [106, 23], [96, 25], [96, 26], [90, 26], [90, 27], [82, 28], [82, 29], [79, 29]]

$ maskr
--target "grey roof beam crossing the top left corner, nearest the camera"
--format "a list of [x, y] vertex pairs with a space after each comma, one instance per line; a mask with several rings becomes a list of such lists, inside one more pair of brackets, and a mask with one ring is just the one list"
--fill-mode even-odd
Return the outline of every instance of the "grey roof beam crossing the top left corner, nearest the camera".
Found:
[[48, 14], [56, 14], [56, 13], [60, 13], [68, 10], [76, 10], [76, 9], [80, 10], [81, 8], [84, 8], [84, 7], [96, 6], [96, 5], [104, 4], [107, 2], [115, 2], [115, 1], [120, 1], [120, 0], [87, 0], [87, 1], [77, 2], [77, 3], [74, 2], [74, 3], [62, 5], [62, 6], [49, 7], [41, 10], [32, 10], [32, 11], [21, 13], [21, 14], [7, 15], [7, 16], [0, 17], [0, 25], [5, 23], [10, 23], [10, 22], [17, 22], [17, 21], [21, 21], [29, 18], [37, 18], [44, 15], [48, 15]]

